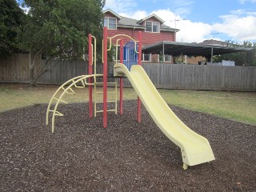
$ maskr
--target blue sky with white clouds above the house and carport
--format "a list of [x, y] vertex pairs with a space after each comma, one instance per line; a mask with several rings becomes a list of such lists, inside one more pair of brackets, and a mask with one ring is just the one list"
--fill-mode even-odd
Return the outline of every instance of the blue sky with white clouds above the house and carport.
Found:
[[180, 30], [177, 42], [256, 42], [256, 0], [106, 0], [106, 9], [135, 19], [157, 14]]

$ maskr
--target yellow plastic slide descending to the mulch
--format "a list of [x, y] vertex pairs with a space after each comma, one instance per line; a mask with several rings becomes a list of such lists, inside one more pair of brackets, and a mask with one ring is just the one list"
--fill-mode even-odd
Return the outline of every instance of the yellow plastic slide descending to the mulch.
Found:
[[154, 122], [172, 142], [182, 150], [183, 168], [213, 161], [210, 143], [190, 130], [163, 100], [142, 66], [134, 65], [129, 71], [123, 64], [114, 65], [115, 76], [126, 76]]

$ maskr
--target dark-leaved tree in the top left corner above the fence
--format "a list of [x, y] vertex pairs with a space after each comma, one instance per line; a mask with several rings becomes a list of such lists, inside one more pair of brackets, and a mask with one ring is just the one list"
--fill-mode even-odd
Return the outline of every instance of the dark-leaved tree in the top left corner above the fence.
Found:
[[0, 0], [0, 10], [0, 55], [6, 56], [18, 48], [17, 32], [23, 12], [15, 0]]

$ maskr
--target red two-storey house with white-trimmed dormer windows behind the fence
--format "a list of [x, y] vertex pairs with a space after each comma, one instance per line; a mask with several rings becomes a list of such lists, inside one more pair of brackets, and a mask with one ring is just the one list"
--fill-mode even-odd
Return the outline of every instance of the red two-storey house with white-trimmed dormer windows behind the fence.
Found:
[[[116, 34], [126, 34], [138, 40], [138, 31], [142, 31], [142, 46], [149, 46], [162, 41], [175, 42], [176, 33], [179, 31], [164, 25], [162, 18], [159, 18], [156, 14], [150, 14], [146, 18], [139, 20], [122, 17], [114, 13], [113, 10], [104, 10], [103, 14], [104, 26], [108, 28], [109, 37], [113, 37]], [[124, 38], [124, 43], [129, 41], [129, 38]], [[142, 62], [159, 62], [161, 59], [159, 54], [142, 53]], [[171, 55], [165, 55], [164, 61], [173, 62]]]

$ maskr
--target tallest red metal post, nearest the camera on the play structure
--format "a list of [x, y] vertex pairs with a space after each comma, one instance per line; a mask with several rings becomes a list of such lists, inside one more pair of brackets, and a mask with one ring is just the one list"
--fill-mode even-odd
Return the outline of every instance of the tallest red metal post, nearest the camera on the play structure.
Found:
[[107, 28], [103, 29], [103, 127], [107, 126]]

